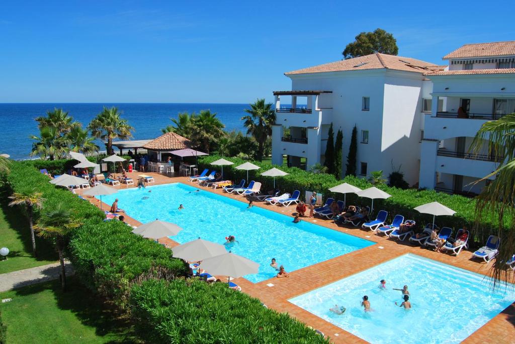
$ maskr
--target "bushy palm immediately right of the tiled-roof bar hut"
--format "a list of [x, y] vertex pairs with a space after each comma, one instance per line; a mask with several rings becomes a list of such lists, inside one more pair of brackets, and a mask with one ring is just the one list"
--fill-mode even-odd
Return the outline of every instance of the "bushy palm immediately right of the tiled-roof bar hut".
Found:
[[202, 110], [199, 115], [190, 118], [188, 125], [190, 137], [188, 138], [193, 141], [195, 146], [202, 147], [206, 153], [209, 153], [211, 144], [224, 136], [222, 130], [224, 128], [225, 125], [216, 118], [216, 113], [212, 114], [209, 110]]

